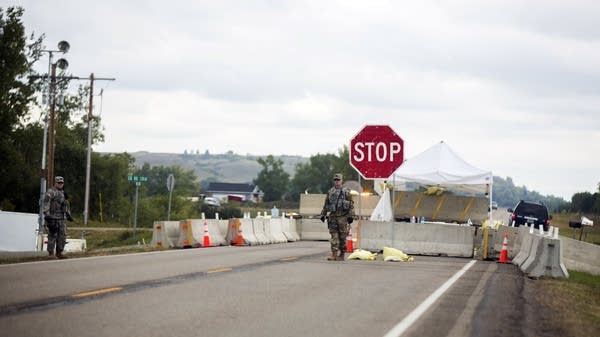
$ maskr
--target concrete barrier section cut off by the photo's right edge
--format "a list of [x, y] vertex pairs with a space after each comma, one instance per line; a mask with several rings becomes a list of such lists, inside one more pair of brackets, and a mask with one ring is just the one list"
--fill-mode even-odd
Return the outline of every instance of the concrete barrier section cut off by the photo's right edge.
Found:
[[563, 262], [568, 269], [600, 275], [600, 246], [562, 237]]

